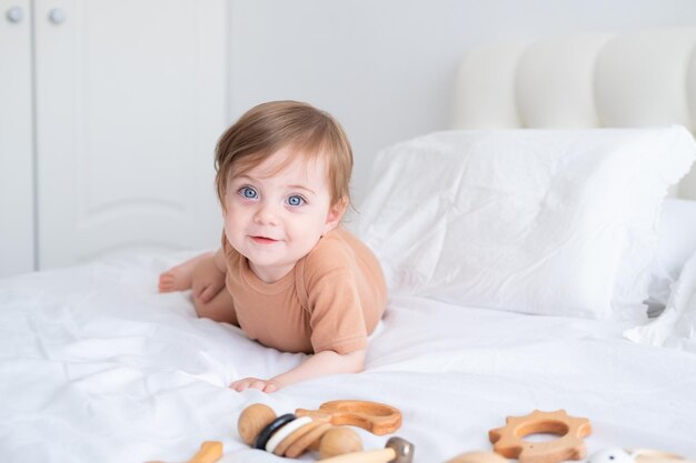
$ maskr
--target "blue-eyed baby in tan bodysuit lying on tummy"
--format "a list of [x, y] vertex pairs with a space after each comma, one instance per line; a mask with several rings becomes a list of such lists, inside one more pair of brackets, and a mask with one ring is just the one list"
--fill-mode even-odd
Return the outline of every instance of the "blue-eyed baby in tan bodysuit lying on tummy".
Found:
[[352, 170], [340, 125], [306, 103], [260, 104], [222, 134], [216, 170], [221, 246], [162, 273], [159, 290], [191, 289], [199, 316], [314, 353], [275, 378], [236, 381], [236, 391], [362, 371], [387, 288], [375, 255], [340, 227]]

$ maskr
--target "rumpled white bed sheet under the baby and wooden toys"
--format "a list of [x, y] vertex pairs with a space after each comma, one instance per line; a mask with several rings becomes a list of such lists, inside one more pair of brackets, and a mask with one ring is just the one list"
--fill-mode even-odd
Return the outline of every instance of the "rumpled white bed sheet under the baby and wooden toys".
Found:
[[[187, 461], [206, 440], [222, 462], [280, 462], [247, 447], [239, 413], [358, 399], [404, 413], [416, 462], [489, 450], [508, 415], [588, 417], [588, 451], [652, 447], [696, 457], [696, 355], [632, 343], [626, 324], [533, 316], [399, 296], [367, 369], [274, 394], [227, 387], [301, 354], [262, 348], [196, 318], [186, 293], [157, 294], [182, 255], [141, 256], [0, 280], [0, 456], [21, 462]], [[387, 436], [358, 430], [366, 449]], [[305, 455], [314, 461], [316, 455]]]

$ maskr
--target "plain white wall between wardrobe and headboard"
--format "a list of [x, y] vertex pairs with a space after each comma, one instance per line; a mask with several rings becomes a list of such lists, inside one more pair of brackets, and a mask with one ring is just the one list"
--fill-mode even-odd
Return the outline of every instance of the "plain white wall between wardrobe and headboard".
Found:
[[230, 2], [230, 122], [277, 99], [331, 112], [352, 141], [358, 203], [379, 149], [447, 128], [454, 76], [467, 48], [696, 24], [694, 0]]

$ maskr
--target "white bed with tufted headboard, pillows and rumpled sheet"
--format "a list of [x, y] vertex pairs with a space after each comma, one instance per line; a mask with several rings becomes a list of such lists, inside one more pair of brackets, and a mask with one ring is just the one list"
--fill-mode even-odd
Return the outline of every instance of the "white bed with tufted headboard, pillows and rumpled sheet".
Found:
[[[346, 224], [391, 290], [365, 372], [227, 387], [304, 354], [158, 294], [187, 253], [13, 276], [3, 461], [183, 462], [203, 441], [222, 442], [221, 462], [290, 461], [246, 445], [240, 413], [339, 399], [399, 409], [415, 462], [489, 451], [489, 430], [534, 410], [587, 417], [588, 454], [695, 460], [696, 29], [481, 46], [456, 81], [451, 130], [385, 149]], [[366, 450], [389, 437], [356, 432]]]

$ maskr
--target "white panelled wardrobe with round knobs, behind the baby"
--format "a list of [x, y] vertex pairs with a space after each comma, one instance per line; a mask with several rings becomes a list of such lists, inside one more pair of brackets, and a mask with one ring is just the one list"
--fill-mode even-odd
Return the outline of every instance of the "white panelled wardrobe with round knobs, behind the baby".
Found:
[[218, 244], [225, 0], [0, 0], [0, 278]]

